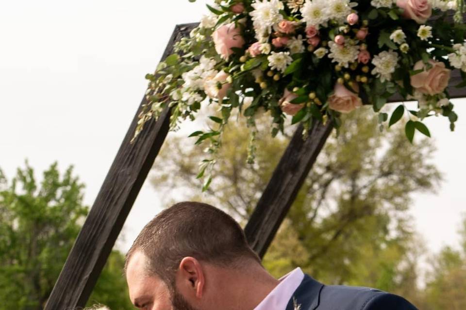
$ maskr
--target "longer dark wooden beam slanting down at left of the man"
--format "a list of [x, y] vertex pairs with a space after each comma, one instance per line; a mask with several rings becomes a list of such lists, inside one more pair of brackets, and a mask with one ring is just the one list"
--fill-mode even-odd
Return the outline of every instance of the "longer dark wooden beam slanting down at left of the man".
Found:
[[[162, 59], [173, 53], [174, 43], [191, 29], [190, 25], [175, 28]], [[141, 105], [145, 102], [143, 99]], [[140, 107], [55, 283], [46, 310], [73, 310], [85, 305], [159, 153], [168, 132], [170, 111], [166, 109], [157, 122], [148, 122], [131, 144], [139, 111]]]

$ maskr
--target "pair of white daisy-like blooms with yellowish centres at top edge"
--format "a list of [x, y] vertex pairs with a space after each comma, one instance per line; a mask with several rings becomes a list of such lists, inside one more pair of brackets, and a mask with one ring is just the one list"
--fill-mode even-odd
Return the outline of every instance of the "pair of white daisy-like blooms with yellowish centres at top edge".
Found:
[[356, 5], [356, 2], [350, 0], [306, 0], [301, 8], [301, 15], [308, 26], [326, 26], [331, 19], [345, 21], [351, 8]]

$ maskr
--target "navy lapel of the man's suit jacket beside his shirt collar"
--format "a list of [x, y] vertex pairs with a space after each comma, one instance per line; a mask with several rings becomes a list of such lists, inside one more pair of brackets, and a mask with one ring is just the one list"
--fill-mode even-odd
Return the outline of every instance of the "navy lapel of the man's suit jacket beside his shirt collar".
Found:
[[324, 285], [312, 279], [308, 275], [304, 275], [304, 279], [298, 289], [296, 289], [293, 297], [288, 302], [286, 310], [295, 310], [294, 304], [300, 305], [300, 310], [314, 310], [319, 305], [320, 290]]

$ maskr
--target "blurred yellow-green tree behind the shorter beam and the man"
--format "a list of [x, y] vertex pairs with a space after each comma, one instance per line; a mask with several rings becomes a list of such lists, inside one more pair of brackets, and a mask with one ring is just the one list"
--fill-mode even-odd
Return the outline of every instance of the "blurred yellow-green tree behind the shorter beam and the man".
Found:
[[[241, 122], [230, 124], [206, 196], [199, 194], [195, 177], [205, 155], [181, 138], [169, 140], [157, 158], [154, 186], [174, 191], [177, 199], [221, 206], [244, 224], [289, 140], [288, 136], [272, 139], [264, 130], [269, 124], [257, 124], [256, 163], [251, 166], [245, 164], [248, 130]], [[352, 113], [319, 155], [264, 259], [265, 266], [276, 276], [301, 266], [329, 284], [376, 286], [392, 292], [402, 288], [403, 281], [415, 282], [406, 277], [403, 266], [413, 242], [407, 211], [412, 193], [433, 191], [441, 180], [429, 162], [433, 150], [430, 140], [410, 144], [401, 126], [380, 133], [365, 109]]]

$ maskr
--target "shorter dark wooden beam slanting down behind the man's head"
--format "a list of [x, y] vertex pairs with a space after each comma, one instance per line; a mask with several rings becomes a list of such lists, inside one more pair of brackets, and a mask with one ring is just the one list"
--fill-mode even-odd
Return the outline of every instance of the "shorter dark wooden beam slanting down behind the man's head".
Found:
[[300, 125], [283, 153], [245, 227], [250, 246], [261, 258], [264, 257], [332, 129], [331, 121], [325, 125], [315, 122], [309, 137], [304, 140]]

